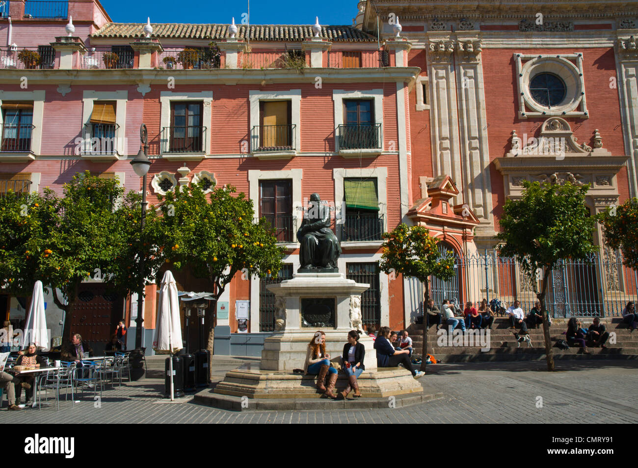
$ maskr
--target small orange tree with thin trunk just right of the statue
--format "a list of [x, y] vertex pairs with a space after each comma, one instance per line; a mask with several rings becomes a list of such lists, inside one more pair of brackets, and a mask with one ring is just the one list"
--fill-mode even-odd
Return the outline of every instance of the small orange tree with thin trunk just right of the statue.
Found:
[[421, 370], [426, 370], [427, 358], [427, 303], [429, 301], [429, 277], [443, 281], [454, 276], [452, 252], [439, 252], [437, 241], [429, 230], [421, 226], [408, 227], [399, 224], [392, 232], [383, 233], [383, 255], [379, 268], [389, 274], [413, 276], [424, 285], [423, 346]]

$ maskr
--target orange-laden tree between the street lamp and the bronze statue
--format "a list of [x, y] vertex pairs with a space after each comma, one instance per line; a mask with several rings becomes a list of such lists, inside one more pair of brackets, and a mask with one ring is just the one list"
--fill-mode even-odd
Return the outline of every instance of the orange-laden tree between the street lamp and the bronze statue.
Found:
[[253, 220], [252, 200], [229, 185], [204, 193], [203, 183], [159, 197], [159, 248], [165, 262], [209, 279], [216, 300], [238, 272], [244, 278], [276, 276], [284, 248], [276, 245], [265, 219]]

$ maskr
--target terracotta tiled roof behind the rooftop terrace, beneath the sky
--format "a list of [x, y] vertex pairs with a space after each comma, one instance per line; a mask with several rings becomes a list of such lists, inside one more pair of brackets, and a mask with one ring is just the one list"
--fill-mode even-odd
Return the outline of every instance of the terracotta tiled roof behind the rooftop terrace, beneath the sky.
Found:
[[[219, 40], [230, 36], [228, 24], [152, 24], [154, 38]], [[144, 23], [107, 23], [92, 38], [142, 38]], [[312, 26], [285, 24], [237, 25], [237, 38], [251, 41], [299, 42], [313, 36]], [[375, 42], [375, 36], [352, 26], [322, 26], [322, 37], [332, 42]]]

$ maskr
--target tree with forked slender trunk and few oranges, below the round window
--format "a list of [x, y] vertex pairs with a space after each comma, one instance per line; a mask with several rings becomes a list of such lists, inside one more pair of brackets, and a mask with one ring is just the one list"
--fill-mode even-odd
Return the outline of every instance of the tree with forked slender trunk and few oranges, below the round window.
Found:
[[[585, 205], [589, 185], [540, 184], [523, 182], [519, 200], [507, 200], [500, 219], [502, 231], [496, 236], [503, 242], [501, 255], [516, 257], [524, 275], [530, 278], [541, 305], [547, 370], [554, 370], [554, 355], [549, 337], [545, 294], [551, 271], [561, 259], [589, 261], [595, 252], [593, 229], [595, 218]], [[538, 291], [537, 271], [542, 271], [542, 288]]]

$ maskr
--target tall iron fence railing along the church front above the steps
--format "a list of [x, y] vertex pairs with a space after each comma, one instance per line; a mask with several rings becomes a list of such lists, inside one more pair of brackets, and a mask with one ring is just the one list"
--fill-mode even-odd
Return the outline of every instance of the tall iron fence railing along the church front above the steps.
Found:
[[[535, 291], [542, 287], [543, 273], [532, 282], [514, 258], [485, 251], [454, 257], [455, 275], [441, 281], [431, 277], [430, 297], [440, 305], [456, 298], [459, 304], [480, 305], [482, 299], [500, 299], [507, 306], [514, 300], [528, 313], [537, 301]], [[553, 317], [618, 317], [629, 301], [638, 301], [638, 274], [622, 264], [621, 253], [604, 248], [587, 259], [560, 260], [549, 273], [545, 306]], [[410, 280], [410, 301], [419, 310], [423, 287]]]

